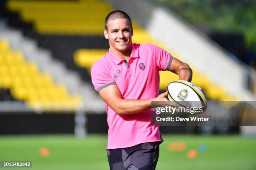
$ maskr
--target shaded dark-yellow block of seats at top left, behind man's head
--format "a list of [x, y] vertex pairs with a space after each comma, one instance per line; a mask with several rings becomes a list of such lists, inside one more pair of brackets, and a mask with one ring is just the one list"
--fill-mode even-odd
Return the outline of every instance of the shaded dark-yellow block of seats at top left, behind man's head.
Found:
[[10, 0], [7, 6], [12, 11], [20, 11], [24, 21], [33, 21], [36, 30], [40, 33], [71, 35], [102, 34], [104, 16], [113, 10], [108, 3], [97, 0]]

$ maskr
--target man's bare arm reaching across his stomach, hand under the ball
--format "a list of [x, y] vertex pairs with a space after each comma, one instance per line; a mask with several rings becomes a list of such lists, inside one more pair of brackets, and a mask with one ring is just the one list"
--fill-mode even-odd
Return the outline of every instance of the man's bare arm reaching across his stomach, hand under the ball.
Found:
[[166, 96], [168, 92], [160, 94], [156, 98], [147, 100], [123, 99], [117, 85], [110, 85], [99, 91], [100, 97], [109, 105], [118, 115], [134, 114], [151, 108], [151, 101], [168, 101]]

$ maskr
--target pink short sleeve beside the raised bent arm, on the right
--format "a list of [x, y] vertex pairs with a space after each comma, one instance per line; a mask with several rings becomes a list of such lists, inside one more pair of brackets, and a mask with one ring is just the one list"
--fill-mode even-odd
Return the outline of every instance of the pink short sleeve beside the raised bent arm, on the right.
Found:
[[169, 70], [171, 64], [172, 64], [172, 55], [167, 52], [166, 50], [156, 46], [149, 44], [152, 51], [153, 55], [156, 59], [156, 65], [159, 68], [159, 70], [164, 71], [164, 70]]

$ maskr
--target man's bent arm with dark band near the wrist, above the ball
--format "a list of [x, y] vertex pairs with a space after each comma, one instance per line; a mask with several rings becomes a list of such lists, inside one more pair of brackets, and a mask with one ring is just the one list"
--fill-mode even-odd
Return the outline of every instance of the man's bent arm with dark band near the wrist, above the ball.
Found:
[[179, 80], [192, 81], [192, 69], [187, 63], [182, 62], [177, 58], [173, 57], [169, 71], [179, 75]]

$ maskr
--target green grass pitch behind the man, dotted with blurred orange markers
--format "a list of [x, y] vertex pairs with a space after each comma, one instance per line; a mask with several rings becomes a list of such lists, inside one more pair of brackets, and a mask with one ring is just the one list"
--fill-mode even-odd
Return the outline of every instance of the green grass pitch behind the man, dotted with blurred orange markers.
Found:
[[[157, 170], [256, 170], [256, 138], [239, 135], [163, 135]], [[183, 151], [169, 151], [172, 142], [185, 142]], [[108, 170], [106, 135], [7, 135], [0, 136], [0, 161], [32, 161], [20, 170]], [[207, 150], [187, 158], [189, 150]], [[40, 148], [50, 155], [41, 156]], [[0, 168], [0, 170], [17, 168]]]

